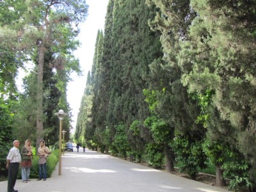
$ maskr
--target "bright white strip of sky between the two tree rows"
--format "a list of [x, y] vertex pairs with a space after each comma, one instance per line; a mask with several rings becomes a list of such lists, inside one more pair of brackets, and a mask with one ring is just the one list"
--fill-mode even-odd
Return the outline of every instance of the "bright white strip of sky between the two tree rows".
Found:
[[79, 41], [81, 47], [75, 52], [75, 56], [79, 58], [83, 76], [77, 77], [73, 74], [74, 81], [68, 83], [67, 100], [72, 109], [72, 127], [75, 131], [77, 114], [79, 112], [81, 98], [84, 93], [86, 78], [89, 70], [92, 70], [93, 55], [95, 49], [95, 40], [99, 29], [104, 30], [105, 16], [107, 12], [109, 0], [86, 0], [89, 5], [88, 17], [84, 24], [81, 25]]

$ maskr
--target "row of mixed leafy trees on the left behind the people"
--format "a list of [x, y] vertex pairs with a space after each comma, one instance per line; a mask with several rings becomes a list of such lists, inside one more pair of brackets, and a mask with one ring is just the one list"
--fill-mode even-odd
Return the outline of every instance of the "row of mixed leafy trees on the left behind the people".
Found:
[[[1, 174], [6, 174], [14, 139], [24, 143], [29, 138], [33, 146], [44, 139], [57, 147], [59, 120], [54, 113], [59, 109], [68, 112], [63, 129], [69, 139], [67, 83], [72, 72], [81, 73], [72, 52], [79, 46], [78, 24], [87, 11], [81, 0], [0, 1]], [[20, 68], [27, 72], [22, 93], [15, 85]]]

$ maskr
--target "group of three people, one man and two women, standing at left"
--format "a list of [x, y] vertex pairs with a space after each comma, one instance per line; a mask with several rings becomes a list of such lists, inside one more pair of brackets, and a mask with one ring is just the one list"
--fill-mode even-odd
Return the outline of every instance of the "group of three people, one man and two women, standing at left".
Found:
[[[19, 151], [19, 141], [13, 141], [13, 148], [10, 149], [8, 156], [6, 157], [6, 168], [8, 169], [8, 192], [16, 192], [14, 189], [15, 182], [17, 180], [19, 166], [21, 169], [22, 182], [27, 183], [29, 180], [30, 168], [32, 165], [32, 147], [31, 140], [26, 140], [24, 147]], [[46, 180], [46, 158], [51, 154], [48, 147], [45, 147], [45, 141], [41, 140], [37, 150], [39, 156], [38, 160], [38, 179]]]

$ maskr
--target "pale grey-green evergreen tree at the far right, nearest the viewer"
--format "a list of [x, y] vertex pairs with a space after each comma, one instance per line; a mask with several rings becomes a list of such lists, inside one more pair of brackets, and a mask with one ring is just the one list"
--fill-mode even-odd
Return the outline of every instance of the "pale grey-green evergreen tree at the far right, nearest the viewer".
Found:
[[180, 52], [184, 84], [190, 92], [214, 90], [213, 105], [233, 127], [232, 143], [250, 164], [255, 190], [255, 1], [191, 1], [191, 6], [198, 17]]

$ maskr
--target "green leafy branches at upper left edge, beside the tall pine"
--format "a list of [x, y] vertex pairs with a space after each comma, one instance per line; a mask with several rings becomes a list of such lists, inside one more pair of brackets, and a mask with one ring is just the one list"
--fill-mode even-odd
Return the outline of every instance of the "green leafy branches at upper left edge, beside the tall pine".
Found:
[[26, 4], [20, 0], [0, 2], [0, 97], [7, 95], [17, 99], [15, 77], [19, 67], [23, 67], [26, 51], [17, 47], [19, 36], [13, 26], [26, 9]]

